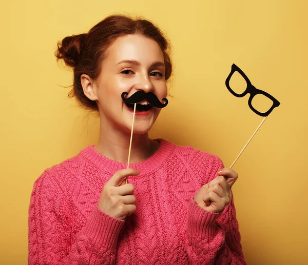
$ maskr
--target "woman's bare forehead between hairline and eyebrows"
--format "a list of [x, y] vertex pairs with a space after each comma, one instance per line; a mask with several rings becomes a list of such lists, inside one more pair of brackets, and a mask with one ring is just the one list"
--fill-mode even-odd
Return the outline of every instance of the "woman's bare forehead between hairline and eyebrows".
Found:
[[108, 48], [106, 61], [117, 64], [124, 59], [139, 60], [141, 64], [151, 64], [157, 60], [164, 62], [163, 52], [158, 43], [137, 34], [118, 37]]

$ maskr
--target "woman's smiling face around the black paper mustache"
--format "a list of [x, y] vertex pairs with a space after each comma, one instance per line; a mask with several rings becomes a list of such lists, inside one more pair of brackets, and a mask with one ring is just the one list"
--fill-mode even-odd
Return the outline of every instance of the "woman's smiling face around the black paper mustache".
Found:
[[[100, 115], [105, 117], [103, 120], [115, 129], [130, 132], [133, 111], [121, 98], [124, 91], [128, 93], [127, 97], [139, 90], [153, 92], [160, 100], [167, 96], [164, 56], [160, 46], [142, 35], [118, 37], [106, 52], [95, 84], [95, 100]], [[143, 100], [144, 103], [147, 102]], [[142, 106], [140, 110], [136, 112], [134, 133], [142, 134], [150, 130], [161, 109]]]

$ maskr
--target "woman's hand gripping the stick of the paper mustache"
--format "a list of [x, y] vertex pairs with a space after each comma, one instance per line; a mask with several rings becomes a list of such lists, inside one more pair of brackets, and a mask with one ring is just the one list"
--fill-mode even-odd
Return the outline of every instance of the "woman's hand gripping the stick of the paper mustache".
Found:
[[120, 220], [125, 219], [136, 211], [136, 197], [133, 196], [134, 187], [132, 184], [120, 182], [127, 176], [136, 176], [140, 172], [136, 169], [123, 169], [115, 172], [106, 182], [98, 203], [99, 208], [109, 216]]

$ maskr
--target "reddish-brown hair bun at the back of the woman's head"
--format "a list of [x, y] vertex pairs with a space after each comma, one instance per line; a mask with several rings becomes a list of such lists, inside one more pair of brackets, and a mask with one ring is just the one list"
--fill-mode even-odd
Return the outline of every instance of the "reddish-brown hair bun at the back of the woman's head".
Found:
[[65, 37], [62, 42], [57, 43], [55, 57], [63, 59], [67, 66], [74, 68], [78, 64], [81, 47], [87, 34], [79, 34]]

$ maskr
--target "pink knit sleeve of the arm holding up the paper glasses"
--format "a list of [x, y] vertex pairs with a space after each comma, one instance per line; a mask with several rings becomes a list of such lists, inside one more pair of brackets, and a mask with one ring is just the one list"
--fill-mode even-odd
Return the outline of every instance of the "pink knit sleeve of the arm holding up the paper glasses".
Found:
[[[204, 176], [203, 185], [216, 177], [223, 164], [218, 157]], [[193, 198], [188, 205], [185, 248], [191, 264], [246, 264], [240, 243], [234, 198], [221, 213], [211, 213], [198, 206]]]

